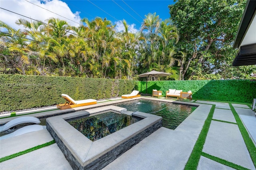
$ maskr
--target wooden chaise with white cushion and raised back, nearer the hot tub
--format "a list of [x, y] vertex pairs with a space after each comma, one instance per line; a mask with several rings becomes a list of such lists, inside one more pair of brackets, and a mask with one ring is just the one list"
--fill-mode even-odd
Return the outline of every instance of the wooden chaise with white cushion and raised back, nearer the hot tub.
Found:
[[67, 94], [62, 94], [61, 96], [64, 99], [66, 99], [66, 103], [57, 104], [57, 108], [59, 108], [60, 110], [67, 109], [67, 108], [75, 108], [80, 106], [87, 106], [91, 104], [97, 104], [97, 100], [94, 100], [94, 99], [74, 100]]

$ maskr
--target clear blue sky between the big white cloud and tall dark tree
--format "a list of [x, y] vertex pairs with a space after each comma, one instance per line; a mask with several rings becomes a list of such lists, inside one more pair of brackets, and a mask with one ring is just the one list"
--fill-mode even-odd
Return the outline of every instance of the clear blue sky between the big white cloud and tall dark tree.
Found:
[[72, 12], [79, 11], [81, 18], [92, 20], [97, 16], [107, 18], [113, 23], [126, 20], [139, 29], [148, 13], [156, 12], [162, 20], [170, 18], [168, 5], [173, 0], [63, 0]]

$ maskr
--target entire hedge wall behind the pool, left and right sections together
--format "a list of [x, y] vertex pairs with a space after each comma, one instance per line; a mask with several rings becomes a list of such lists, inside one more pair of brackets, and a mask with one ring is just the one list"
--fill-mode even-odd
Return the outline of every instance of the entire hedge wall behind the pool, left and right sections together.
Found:
[[[191, 90], [193, 99], [200, 100], [251, 103], [256, 98], [256, 81], [250, 80], [148, 81], [149, 94], [157, 89], [165, 95], [169, 88]], [[62, 93], [74, 100], [98, 100], [130, 94], [134, 89], [146, 93], [146, 81], [0, 74], [0, 112], [64, 103]]]

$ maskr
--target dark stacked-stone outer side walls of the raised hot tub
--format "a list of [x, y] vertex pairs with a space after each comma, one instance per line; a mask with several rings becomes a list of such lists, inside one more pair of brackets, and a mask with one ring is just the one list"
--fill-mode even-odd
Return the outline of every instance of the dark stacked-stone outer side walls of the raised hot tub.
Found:
[[60, 150], [64, 153], [66, 159], [69, 161], [70, 165], [74, 170], [99, 170], [104, 168], [106, 165], [108, 165], [110, 162], [114, 161], [116, 158], [118, 158], [120, 155], [122, 155], [124, 152], [132, 148], [134, 145], [138, 144], [140, 141], [142, 141], [144, 138], [158, 130], [160, 127], [162, 127], [162, 120], [159, 122], [156, 122], [152, 126], [146, 128], [144, 131], [136, 134], [134, 137], [126, 140], [125, 142], [121, 143], [117, 147], [113, 148], [106, 154], [100, 156], [90, 164], [87, 164], [86, 166], [82, 166], [78, 160], [72, 155], [70, 150], [66, 148], [66, 146], [63, 144], [63, 142], [58, 138], [54, 130], [48, 125], [46, 122], [47, 130], [50, 132], [52, 137], [55, 139], [56, 143], [58, 144]]

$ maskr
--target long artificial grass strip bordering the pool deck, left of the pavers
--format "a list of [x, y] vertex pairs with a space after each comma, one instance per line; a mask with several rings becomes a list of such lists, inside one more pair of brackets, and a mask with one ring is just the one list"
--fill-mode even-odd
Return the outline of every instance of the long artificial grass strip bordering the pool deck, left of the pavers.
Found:
[[215, 110], [215, 104], [212, 105], [212, 108], [204, 122], [204, 126], [198, 136], [198, 139], [196, 141], [196, 144], [192, 150], [192, 153], [190, 154], [190, 157], [188, 158], [188, 162], [185, 165], [184, 170], [196, 170], [198, 166], [198, 162], [204, 147], [204, 142], [206, 140], [206, 136], [208, 133], [208, 130], [210, 128], [210, 124], [212, 121], [212, 116]]

